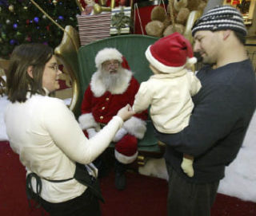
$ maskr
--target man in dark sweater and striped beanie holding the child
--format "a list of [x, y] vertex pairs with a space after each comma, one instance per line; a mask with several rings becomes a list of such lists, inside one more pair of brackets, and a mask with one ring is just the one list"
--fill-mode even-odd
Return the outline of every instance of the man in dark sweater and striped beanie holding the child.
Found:
[[[193, 97], [189, 125], [174, 135], [157, 132], [166, 143], [168, 214], [207, 216], [225, 167], [238, 154], [256, 106], [254, 69], [244, 48], [246, 27], [231, 6], [209, 10], [192, 28], [194, 51], [205, 65], [197, 73], [202, 88]], [[182, 154], [194, 156], [194, 177], [182, 172]]]

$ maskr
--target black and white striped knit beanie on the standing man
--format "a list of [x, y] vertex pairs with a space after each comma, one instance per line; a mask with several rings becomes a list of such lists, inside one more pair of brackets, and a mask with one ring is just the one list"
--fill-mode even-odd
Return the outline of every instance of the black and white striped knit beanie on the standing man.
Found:
[[203, 14], [201, 18], [194, 23], [192, 27], [192, 36], [197, 31], [210, 30], [219, 31], [231, 29], [247, 34], [246, 26], [244, 25], [242, 14], [232, 6], [216, 6]]

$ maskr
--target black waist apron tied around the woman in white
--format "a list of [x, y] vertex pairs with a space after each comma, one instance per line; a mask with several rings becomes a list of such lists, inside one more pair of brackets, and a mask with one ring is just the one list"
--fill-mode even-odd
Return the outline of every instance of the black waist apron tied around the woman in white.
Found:
[[[34, 193], [32, 189], [32, 178], [36, 179], [36, 191]], [[86, 169], [86, 166], [81, 163], [76, 163], [76, 168], [74, 171], [74, 177], [70, 179], [62, 179], [62, 180], [50, 180], [46, 179], [47, 181], [51, 183], [63, 183], [66, 181], [70, 181], [71, 179], [76, 179], [78, 183], [81, 183], [82, 185], [88, 187], [91, 192], [94, 194], [95, 197], [97, 197], [102, 202], [104, 201], [104, 198], [102, 197], [102, 192], [100, 190], [100, 186], [98, 183], [98, 179], [94, 178], [93, 175], [90, 175], [89, 172]], [[34, 198], [36, 202], [40, 205], [40, 194], [42, 191], [42, 180], [40, 177], [35, 174], [34, 172], [30, 173], [26, 176], [26, 196], [30, 200], [31, 198]]]

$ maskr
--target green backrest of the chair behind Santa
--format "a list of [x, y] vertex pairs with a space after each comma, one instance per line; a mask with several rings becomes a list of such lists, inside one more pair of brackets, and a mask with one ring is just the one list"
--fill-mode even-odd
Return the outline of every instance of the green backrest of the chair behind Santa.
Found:
[[[99, 50], [106, 47], [118, 49], [118, 51], [126, 57], [131, 71], [134, 72], [134, 77], [138, 82], [142, 82], [146, 81], [152, 75], [152, 72], [149, 69], [149, 63], [145, 57], [145, 51], [149, 45], [153, 44], [154, 41], [157, 40], [158, 37], [128, 34], [108, 37], [80, 47], [78, 50], [78, 77], [81, 87], [78, 96], [79, 106], [82, 103], [83, 94], [90, 84], [90, 78], [96, 71], [94, 59]], [[79, 116], [80, 113], [75, 113], [75, 115]]]

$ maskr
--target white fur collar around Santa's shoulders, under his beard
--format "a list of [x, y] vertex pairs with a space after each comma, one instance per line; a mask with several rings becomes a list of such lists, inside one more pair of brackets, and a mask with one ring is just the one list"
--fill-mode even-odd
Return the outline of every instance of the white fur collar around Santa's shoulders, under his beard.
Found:
[[110, 89], [106, 89], [106, 85], [102, 79], [100, 71], [97, 71], [91, 77], [90, 88], [94, 93], [94, 96], [102, 96], [106, 90], [110, 91], [111, 94], [122, 94], [126, 92], [130, 84], [130, 79], [133, 76], [133, 73], [130, 70], [122, 69], [119, 73], [122, 73], [122, 77], [116, 86], [111, 86]]

